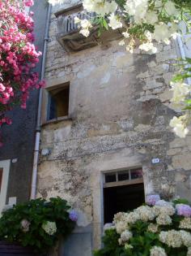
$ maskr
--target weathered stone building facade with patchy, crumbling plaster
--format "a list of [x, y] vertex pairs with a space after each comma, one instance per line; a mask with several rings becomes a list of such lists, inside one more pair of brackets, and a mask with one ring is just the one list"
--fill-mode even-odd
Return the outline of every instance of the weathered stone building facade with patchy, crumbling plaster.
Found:
[[[37, 197], [64, 197], [79, 211], [79, 227], [61, 255], [90, 256], [101, 244], [105, 173], [139, 167], [145, 195], [191, 201], [191, 136], [180, 139], [169, 128], [178, 46], [129, 54], [116, 39], [68, 52], [57, 41], [55, 12], [76, 4], [52, 9], [40, 143], [49, 154], [40, 155]], [[68, 114], [51, 119], [49, 94], [66, 85]]]

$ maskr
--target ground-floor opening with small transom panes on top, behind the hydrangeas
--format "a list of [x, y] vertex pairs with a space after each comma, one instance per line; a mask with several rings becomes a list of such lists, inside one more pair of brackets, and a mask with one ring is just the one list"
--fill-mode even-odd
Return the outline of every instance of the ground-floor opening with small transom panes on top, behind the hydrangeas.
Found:
[[104, 174], [104, 223], [120, 211], [134, 210], [145, 202], [142, 168]]

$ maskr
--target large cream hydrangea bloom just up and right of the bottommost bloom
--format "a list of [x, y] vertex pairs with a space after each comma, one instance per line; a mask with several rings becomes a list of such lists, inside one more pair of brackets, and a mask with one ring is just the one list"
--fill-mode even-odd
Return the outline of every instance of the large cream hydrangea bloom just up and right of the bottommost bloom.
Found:
[[162, 231], [159, 233], [159, 241], [162, 241], [169, 247], [179, 248], [182, 245], [182, 236], [179, 231], [174, 229], [167, 232]]

